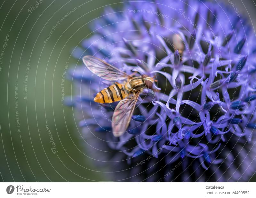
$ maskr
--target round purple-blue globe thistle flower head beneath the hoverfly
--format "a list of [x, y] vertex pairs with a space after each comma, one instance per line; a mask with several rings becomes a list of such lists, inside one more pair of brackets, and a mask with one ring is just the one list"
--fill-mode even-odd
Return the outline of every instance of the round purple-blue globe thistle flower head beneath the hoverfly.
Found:
[[[248, 181], [255, 173], [256, 47], [246, 19], [225, 5], [188, 0], [108, 7], [72, 51], [127, 74], [155, 77], [131, 123], [114, 137], [116, 103], [94, 103], [112, 82], [85, 65], [70, 71], [90, 157], [111, 181]], [[122, 83], [122, 82], [121, 82]]]

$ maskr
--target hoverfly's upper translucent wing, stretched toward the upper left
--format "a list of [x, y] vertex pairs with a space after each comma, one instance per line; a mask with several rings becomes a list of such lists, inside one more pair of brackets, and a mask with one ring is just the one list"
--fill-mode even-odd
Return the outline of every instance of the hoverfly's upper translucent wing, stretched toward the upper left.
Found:
[[83, 57], [84, 65], [94, 74], [100, 76], [105, 80], [124, 80], [129, 78], [125, 72], [117, 69], [116, 67], [109, 65], [105, 61], [93, 57], [93, 56], [84, 56]]

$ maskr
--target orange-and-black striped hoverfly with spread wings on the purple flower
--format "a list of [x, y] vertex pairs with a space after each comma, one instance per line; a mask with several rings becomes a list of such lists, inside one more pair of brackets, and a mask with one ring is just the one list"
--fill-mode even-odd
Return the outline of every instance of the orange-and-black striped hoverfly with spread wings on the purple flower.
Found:
[[128, 75], [93, 56], [83, 57], [83, 62], [92, 73], [105, 80], [125, 80], [123, 84], [116, 82], [108, 88], [104, 88], [94, 98], [96, 103], [120, 101], [115, 108], [111, 121], [114, 136], [120, 137], [130, 124], [140, 93], [144, 88], [153, 89], [154, 78], [147, 75], [132, 77], [132, 75]]

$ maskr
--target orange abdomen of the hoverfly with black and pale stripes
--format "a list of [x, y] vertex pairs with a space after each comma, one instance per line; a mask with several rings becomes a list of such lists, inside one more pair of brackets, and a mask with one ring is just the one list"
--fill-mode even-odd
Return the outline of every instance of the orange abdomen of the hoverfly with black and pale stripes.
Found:
[[116, 83], [108, 88], [102, 89], [94, 98], [96, 103], [113, 103], [120, 101], [129, 95], [124, 85]]

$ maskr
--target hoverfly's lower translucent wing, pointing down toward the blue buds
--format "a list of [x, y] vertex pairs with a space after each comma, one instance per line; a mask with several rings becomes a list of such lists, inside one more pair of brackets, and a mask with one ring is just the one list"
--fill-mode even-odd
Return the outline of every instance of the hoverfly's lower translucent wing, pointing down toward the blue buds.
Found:
[[139, 95], [140, 93], [136, 93], [131, 98], [125, 98], [117, 104], [112, 116], [112, 131], [115, 137], [123, 135], [129, 126]]

